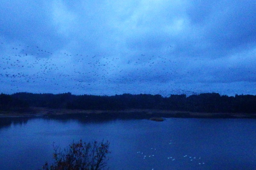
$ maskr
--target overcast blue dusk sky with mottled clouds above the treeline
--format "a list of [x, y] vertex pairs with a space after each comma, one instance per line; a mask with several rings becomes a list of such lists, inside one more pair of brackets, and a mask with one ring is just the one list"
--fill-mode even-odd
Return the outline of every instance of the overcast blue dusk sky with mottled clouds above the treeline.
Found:
[[256, 94], [255, 0], [0, 6], [0, 92]]

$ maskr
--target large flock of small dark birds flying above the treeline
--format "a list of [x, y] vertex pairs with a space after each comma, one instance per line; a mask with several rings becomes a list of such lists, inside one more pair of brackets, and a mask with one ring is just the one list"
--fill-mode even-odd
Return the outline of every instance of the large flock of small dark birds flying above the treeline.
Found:
[[[114, 94], [189, 93], [181, 90], [182, 88], [173, 87], [170, 83], [182, 81], [182, 78], [193, 74], [183, 67], [189, 61], [145, 54], [126, 58], [56, 53], [39, 46], [18, 44], [8, 48], [4, 46], [4, 42], [0, 43], [2, 49], [0, 83], [11, 86], [12, 92], [38, 89], [38, 93], [41, 93], [40, 87], [43, 86], [46, 90], [55, 93], [87, 94], [108, 90]], [[4, 51], [7, 51], [6, 54], [3, 53]], [[198, 59], [193, 62], [201, 61]], [[152, 84], [158, 88], [152, 88]], [[166, 89], [161, 89], [163, 84], [169, 85], [168, 92]]]

